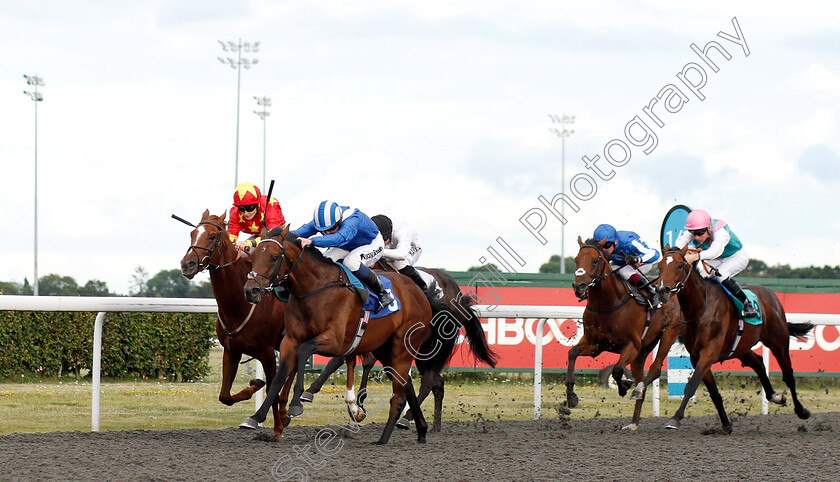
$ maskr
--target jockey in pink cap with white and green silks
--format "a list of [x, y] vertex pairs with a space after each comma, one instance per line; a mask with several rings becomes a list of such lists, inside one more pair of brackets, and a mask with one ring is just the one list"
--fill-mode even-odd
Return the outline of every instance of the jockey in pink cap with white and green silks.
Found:
[[677, 237], [674, 245], [682, 249], [686, 245], [690, 245], [689, 253], [686, 254], [685, 260], [692, 264], [697, 260], [701, 260], [715, 268], [711, 272], [707, 271], [701, 265], [697, 266], [697, 270], [701, 276], [714, 276], [720, 281], [732, 296], [744, 304], [744, 317], [754, 318], [758, 316], [755, 307], [747, 299], [747, 295], [741, 290], [741, 287], [735, 281], [734, 276], [744, 270], [750, 262], [750, 256], [744, 249], [741, 240], [729, 228], [726, 221], [720, 219], [712, 219], [706, 211], [702, 209], [695, 209], [688, 214], [688, 219], [685, 221], [685, 231]]

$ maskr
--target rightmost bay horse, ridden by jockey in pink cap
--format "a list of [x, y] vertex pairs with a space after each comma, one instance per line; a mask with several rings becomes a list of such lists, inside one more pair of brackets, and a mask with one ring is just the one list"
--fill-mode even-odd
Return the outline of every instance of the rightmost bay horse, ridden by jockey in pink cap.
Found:
[[811, 412], [802, 406], [796, 396], [796, 379], [790, 362], [790, 337], [803, 338], [814, 327], [811, 323], [788, 323], [785, 310], [775, 293], [761, 285], [744, 285], [758, 296], [756, 309], [762, 314], [761, 325], [743, 323], [743, 333], [739, 338], [740, 314], [729, 299], [726, 291], [717, 282], [703, 278], [685, 260], [688, 247], [683, 249], [663, 248], [659, 262], [659, 281], [657, 291], [666, 300], [676, 295], [685, 316], [685, 329], [682, 341], [694, 365], [694, 374], [686, 383], [683, 400], [674, 416], [665, 424], [666, 428], [676, 429], [685, 415], [685, 407], [694, 396], [700, 381], [706, 385], [709, 397], [717, 408], [723, 431], [732, 433], [732, 423], [723, 408], [723, 398], [715, 383], [712, 365], [737, 358], [741, 363], [758, 374], [767, 400], [785, 404], [785, 394], [776, 393], [770, 385], [764, 368], [764, 362], [752, 347], [759, 341], [770, 348], [779, 367], [782, 380], [790, 388], [793, 398], [793, 410], [801, 419], [807, 419]]

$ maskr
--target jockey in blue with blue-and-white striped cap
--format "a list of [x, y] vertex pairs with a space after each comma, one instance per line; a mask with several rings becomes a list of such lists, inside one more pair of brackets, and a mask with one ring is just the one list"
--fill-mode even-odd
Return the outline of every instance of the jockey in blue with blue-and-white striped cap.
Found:
[[343, 258], [344, 266], [379, 297], [379, 307], [375, 311], [393, 303], [394, 298], [370, 270], [385, 249], [376, 224], [358, 209], [339, 206], [333, 201], [318, 204], [312, 218], [312, 221], [292, 231], [300, 237], [301, 246], [311, 244], [327, 248], [324, 256], [333, 261]]

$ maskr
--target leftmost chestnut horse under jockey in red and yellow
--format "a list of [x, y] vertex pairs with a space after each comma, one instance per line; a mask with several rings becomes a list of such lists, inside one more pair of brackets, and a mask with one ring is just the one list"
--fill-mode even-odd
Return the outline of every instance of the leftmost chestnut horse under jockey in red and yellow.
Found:
[[[219, 401], [233, 405], [250, 399], [265, 385], [262, 380], [251, 380], [247, 388], [231, 395], [243, 354], [259, 360], [268, 379], [274, 376], [274, 349], [280, 346], [283, 337], [285, 303], [272, 297], [252, 305], [245, 299], [241, 287], [250, 266], [230, 241], [225, 217], [226, 213], [215, 216], [210, 210], [204, 211], [198, 226], [190, 233], [190, 247], [181, 259], [181, 274], [192, 279], [205, 269], [210, 272], [210, 286], [219, 306], [216, 336], [224, 349]], [[276, 400], [272, 408], [276, 425], [280, 423]]]

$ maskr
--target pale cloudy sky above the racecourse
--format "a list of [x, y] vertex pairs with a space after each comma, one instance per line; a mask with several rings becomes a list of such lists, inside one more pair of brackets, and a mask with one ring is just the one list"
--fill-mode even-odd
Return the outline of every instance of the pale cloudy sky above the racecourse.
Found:
[[[561, 191], [547, 114], [576, 115], [581, 157], [615, 177], [566, 209], [566, 255], [609, 222], [658, 246], [672, 205], [727, 220], [754, 258], [840, 264], [840, 6], [836, 2], [173, 1], [0, 2], [0, 280], [33, 273], [38, 104], [38, 274], [127, 293], [136, 266], [178, 267], [189, 229], [234, 185], [236, 71], [217, 40], [260, 41], [242, 71], [239, 180], [267, 175], [293, 227], [323, 199], [416, 226], [422, 265], [481, 264], [501, 236], [537, 271], [560, 252], [520, 224]], [[750, 55], [717, 37], [737, 17]], [[676, 77], [690, 45], [718, 41], [698, 100]], [[667, 84], [650, 154], [611, 168], [604, 146]], [[569, 192], [568, 187], [566, 192]], [[498, 248], [498, 246], [497, 246]], [[491, 260], [492, 261], [492, 260]]]

